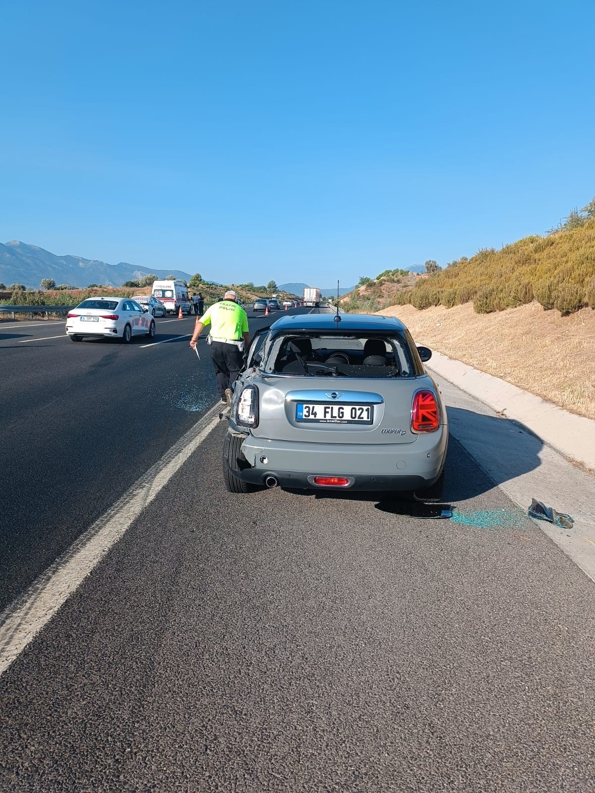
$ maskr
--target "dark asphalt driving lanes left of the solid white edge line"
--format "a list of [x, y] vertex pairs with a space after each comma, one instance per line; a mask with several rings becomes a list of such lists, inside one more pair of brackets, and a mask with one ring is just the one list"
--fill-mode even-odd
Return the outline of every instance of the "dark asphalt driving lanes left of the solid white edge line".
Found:
[[[274, 316], [250, 313], [251, 329]], [[209, 348], [198, 361], [188, 346], [194, 317], [156, 324], [154, 344], [129, 345], [0, 324], [0, 611], [217, 401]]]

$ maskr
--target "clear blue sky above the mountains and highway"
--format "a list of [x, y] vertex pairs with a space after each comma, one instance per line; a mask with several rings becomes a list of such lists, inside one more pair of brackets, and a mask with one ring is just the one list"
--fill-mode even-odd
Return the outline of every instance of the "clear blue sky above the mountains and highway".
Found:
[[589, 2], [27, 2], [0, 241], [221, 282], [360, 275], [595, 195]]

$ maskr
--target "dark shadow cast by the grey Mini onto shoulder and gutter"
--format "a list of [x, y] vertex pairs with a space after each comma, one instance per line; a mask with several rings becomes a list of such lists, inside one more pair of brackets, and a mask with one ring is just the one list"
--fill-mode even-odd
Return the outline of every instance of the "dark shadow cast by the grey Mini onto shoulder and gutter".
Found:
[[[489, 492], [504, 482], [539, 467], [543, 442], [524, 424], [501, 416], [486, 416], [463, 408], [448, 408], [450, 439], [443, 503], [420, 504], [408, 493], [337, 492], [321, 490], [319, 499], [375, 501], [376, 508], [395, 515], [440, 518], [451, 504]], [[457, 439], [474, 450], [470, 454]], [[486, 471], [489, 470], [489, 474]], [[341, 472], [337, 472], [338, 474]], [[305, 491], [301, 491], [305, 495]], [[308, 492], [312, 495], [312, 492]], [[420, 499], [423, 497], [419, 494]]]

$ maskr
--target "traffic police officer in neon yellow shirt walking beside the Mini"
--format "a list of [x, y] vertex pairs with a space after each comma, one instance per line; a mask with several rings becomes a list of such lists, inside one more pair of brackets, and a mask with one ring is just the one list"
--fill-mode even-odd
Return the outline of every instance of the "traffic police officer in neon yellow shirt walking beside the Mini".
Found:
[[237, 304], [237, 295], [232, 289], [228, 289], [222, 301], [212, 305], [200, 318], [196, 318], [190, 339], [193, 350], [202, 328], [208, 325], [211, 326], [209, 343], [217, 377], [217, 390], [221, 402], [226, 405], [222, 416], [229, 416], [233, 394], [231, 387], [244, 366], [244, 348], [250, 342], [248, 315]]

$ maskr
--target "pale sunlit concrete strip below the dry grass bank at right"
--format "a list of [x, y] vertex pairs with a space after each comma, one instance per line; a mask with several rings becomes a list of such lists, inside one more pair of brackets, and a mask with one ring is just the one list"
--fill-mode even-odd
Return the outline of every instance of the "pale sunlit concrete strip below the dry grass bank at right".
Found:
[[439, 352], [432, 352], [428, 369], [497, 413], [524, 423], [564, 457], [595, 470], [595, 421], [592, 419], [569, 413], [499, 377], [480, 372]]

